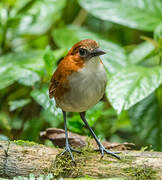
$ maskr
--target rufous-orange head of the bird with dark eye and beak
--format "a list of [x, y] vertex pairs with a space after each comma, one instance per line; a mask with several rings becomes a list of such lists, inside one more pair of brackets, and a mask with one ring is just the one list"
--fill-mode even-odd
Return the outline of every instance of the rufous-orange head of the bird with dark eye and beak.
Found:
[[68, 55], [75, 55], [84, 60], [89, 60], [92, 57], [103, 54], [105, 54], [105, 52], [101, 50], [98, 43], [92, 39], [79, 41], [68, 52]]

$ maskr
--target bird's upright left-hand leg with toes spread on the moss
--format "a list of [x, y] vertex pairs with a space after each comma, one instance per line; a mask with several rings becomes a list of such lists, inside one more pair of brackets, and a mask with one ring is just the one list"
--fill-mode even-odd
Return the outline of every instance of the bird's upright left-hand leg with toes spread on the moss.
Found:
[[66, 125], [66, 112], [65, 111], [62, 111], [62, 112], [63, 112], [63, 118], [64, 118], [64, 128], [65, 128], [65, 138], [66, 138], [66, 140], [65, 140], [65, 150], [60, 155], [65, 154], [65, 152], [69, 152], [72, 160], [75, 161], [74, 157], [73, 157], [73, 154], [72, 154], [72, 151], [77, 152], [77, 153], [81, 153], [81, 151], [73, 149], [69, 144], [67, 125]]

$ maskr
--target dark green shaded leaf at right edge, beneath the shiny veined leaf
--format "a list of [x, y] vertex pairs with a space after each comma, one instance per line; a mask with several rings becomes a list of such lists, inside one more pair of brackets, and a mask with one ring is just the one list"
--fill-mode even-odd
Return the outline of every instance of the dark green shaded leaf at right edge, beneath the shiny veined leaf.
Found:
[[155, 94], [130, 108], [129, 116], [137, 136], [145, 145], [151, 144], [154, 150], [162, 150], [162, 112]]

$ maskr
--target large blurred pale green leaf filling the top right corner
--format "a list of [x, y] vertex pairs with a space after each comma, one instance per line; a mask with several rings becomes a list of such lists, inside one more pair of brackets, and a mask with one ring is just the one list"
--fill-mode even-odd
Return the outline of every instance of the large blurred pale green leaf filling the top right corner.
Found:
[[90, 14], [131, 28], [153, 31], [162, 21], [161, 0], [79, 0]]

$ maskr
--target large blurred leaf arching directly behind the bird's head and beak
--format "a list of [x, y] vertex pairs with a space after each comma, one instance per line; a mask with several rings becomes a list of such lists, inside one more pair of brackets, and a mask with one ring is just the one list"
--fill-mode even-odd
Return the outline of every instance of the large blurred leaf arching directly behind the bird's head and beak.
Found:
[[107, 54], [102, 56], [102, 59], [104, 65], [110, 73], [114, 73], [122, 67], [126, 67], [128, 64], [125, 51], [122, 47], [111, 41], [105, 40], [86, 28], [68, 26], [65, 28], [55, 29], [53, 31], [53, 38], [59, 47], [67, 50], [80, 40], [96, 40], [100, 47], [107, 52]]

